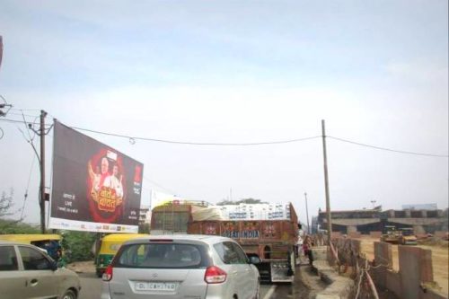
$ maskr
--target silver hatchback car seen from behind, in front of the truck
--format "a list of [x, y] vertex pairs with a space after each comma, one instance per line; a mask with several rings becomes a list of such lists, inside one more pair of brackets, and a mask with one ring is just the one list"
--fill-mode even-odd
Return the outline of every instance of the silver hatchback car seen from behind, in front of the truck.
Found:
[[125, 242], [103, 274], [101, 299], [260, 298], [260, 276], [233, 239], [159, 235]]

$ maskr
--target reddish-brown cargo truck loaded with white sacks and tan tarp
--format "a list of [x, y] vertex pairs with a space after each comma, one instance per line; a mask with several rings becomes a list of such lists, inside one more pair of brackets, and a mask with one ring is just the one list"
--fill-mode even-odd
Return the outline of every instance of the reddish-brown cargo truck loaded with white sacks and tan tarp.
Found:
[[292, 283], [299, 237], [293, 205], [233, 206], [209, 207], [202, 202], [172, 202], [154, 207], [151, 234], [189, 233], [232, 238], [239, 242], [249, 257], [260, 258], [261, 262], [256, 266], [261, 282]]

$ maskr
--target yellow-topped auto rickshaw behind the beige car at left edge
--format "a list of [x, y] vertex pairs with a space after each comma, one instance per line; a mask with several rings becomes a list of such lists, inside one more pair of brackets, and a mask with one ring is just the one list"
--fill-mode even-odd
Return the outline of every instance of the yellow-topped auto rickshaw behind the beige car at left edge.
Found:
[[46, 251], [48, 255], [56, 261], [62, 256], [62, 247], [60, 241], [62, 237], [55, 233], [17, 233], [17, 234], [0, 234], [0, 240], [22, 242], [38, 246], [41, 250]]

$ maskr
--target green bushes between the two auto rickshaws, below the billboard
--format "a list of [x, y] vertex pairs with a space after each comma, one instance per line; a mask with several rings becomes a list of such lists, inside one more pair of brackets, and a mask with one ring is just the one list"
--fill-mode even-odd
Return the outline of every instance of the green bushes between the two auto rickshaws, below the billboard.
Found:
[[62, 233], [62, 248], [67, 263], [93, 259], [95, 233], [67, 231]]

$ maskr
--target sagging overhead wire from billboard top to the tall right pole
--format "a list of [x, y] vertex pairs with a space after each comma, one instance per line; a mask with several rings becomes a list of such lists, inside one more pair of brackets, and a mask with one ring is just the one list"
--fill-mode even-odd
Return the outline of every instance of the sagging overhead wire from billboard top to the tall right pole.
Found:
[[86, 132], [91, 132], [91, 133], [96, 133], [96, 134], [101, 134], [101, 135], [128, 138], [129, 140], [145, 140], [145, 141], [162, 142], [162, 143], [166, 143], [166, 144], [176, 144], [176, 145], [231, 145], [231, 146], [279, 145], [279, 144], [293, 143], [293, 142], [305, 141], [305, 140], [310, 140], [310, 139], [321, 137], [321, 136], [311, 136], [311, 137], [297, 138], [297, 139], [290, 139], [290, 140], [265, 141], [265, 142], [254, 142], [254, 143], [208, 143], [208, 142], [175, 141], [175, 140], [156, 139], [156, 138], [147, 138], [147, 137], [126, 136], [126, 135], [119, 135], [119, 134], [114, 134], [114, 133], [96, 131], [96, 130], [92, 130], [92, 129], [88, 129], [88, 128], [77, 128], [77, 127], [70, 127], [70, 128], [74, 128], [74, 129], [78, 129], [78, 130], [86, 131]]

